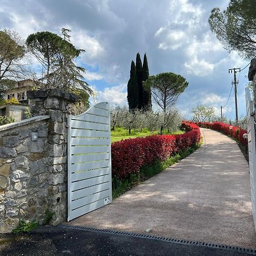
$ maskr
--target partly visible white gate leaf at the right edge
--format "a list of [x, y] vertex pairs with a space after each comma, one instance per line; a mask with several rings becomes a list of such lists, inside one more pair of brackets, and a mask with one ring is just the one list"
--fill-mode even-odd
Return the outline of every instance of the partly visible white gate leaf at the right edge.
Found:
[[254, 227], [256, 231], [256, 217], [255, 217], [256, 152], [255, 152], [254, 105], [253, 105], [253, 101], [251, 100], [249, 88], [245, 88], [245, 95], [246, 95], [248, 153], [249, 153], [249, 168], [250, 168], [250, 183], [251, 183], [251, 204], [253, 207]]

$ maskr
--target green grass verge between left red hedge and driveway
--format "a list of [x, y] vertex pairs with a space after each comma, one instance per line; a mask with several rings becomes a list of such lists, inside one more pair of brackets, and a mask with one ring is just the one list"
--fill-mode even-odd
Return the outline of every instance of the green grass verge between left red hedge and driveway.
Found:
[[187, 157], [188, 155], [192, 154], [201, 146], [203, 141], [196, 144], [194, 147], [187, 148], [184, 151], [180, 151], [178, 154], [171, 156], [170, 158], [166, 159], [163, 162], [159, 160], [155, 161], [153, 164], [148, 166], [143, 166], [138, 174], [130, 175], [125, 180], [120, 180], [117, 177], [112, 178], [112, 196], [113, 199], [121, 196], [126, 191], [129, 191], [131, 188], [135, 187], [138, 184], [141, 184], [143, 181], [149, 179], [150, 177], [159, 174], [166, 168], [172, 166], [179, 162], [179, 160]]

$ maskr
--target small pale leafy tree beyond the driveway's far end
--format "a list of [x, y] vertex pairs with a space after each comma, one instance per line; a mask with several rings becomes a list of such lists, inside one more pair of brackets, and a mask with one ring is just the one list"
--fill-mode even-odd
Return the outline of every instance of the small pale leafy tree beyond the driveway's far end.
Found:
[[212, 106], [198, 105], [192, 109], [194, 122], [211, 122], [216, 118], [214, 108]]

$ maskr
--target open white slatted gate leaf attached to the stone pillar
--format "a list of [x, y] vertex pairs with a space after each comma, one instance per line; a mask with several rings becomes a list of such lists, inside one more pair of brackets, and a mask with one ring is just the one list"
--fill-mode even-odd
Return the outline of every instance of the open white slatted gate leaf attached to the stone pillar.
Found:
[[110, 110], [68, 118], [68, 221], [112, 202]]

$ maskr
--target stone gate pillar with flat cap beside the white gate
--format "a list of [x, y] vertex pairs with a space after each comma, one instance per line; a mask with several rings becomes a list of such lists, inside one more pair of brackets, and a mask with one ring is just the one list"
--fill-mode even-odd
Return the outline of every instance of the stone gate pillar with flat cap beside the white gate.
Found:
[[59, 89], [28, 91], [32, 115], [49, 115], [47, 135], [48, 208], [52, 224], [67, 220], [67, 116], [78, 97]]

